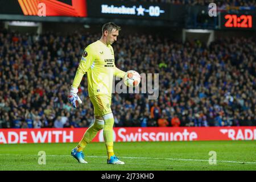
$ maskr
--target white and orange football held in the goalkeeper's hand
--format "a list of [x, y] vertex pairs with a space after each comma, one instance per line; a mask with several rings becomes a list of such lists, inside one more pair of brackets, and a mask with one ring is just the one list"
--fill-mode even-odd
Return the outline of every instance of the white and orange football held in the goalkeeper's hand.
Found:
[[141, 82], [141, 76], [137, 71], [130, 70], [127, 71], [125, 76], [123, 77], [123, 82], [125, 83], [126, 86], [138, 86], [139, 83]]

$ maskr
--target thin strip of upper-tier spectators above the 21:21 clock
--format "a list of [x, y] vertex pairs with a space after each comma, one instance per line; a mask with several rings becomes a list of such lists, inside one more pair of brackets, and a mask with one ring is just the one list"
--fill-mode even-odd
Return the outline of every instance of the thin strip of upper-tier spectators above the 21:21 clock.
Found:
[[210, 3], [216, 3], [217, 7], [222, 9], [228, 9], [232, 7], [250, 7], [250, 9], [255, 9], [255, 0], [123, 0], [131, 2], [151, 2], [151, 3], [171, 3], [174, 5], [201, 5], [208, 6]]

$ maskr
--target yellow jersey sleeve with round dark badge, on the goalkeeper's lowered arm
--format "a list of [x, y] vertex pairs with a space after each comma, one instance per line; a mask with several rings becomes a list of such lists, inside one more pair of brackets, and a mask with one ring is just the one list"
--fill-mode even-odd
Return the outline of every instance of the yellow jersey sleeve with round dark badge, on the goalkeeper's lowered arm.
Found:
[[77, 68], [76, 76], [73, 80], [73, 84], [72, 84], [73, 88], [79, 87], [82, 77], [85, 75], [85, 73], [88, 71], [88, 69], [92, 65], [94, 61], [94, 57], [95, 56], [92, 48], [90, 46], [86, 47], [84, 50], [84, 53], [82, 53], [79, 67]]

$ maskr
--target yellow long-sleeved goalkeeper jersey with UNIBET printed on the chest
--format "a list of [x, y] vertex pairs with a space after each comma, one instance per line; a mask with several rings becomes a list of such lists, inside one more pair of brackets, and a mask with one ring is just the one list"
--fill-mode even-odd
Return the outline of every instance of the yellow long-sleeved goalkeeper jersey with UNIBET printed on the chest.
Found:
[[86, 72], [89, 97], [100, 94], [107, 94], [111, 97], [113, 76], [125, 76], [125, 72], [115, 67], [113, 47], [107, 46], [100, 40], [85, 48], [73, 80], [73, 88], [79, 87], [82, 76]]

